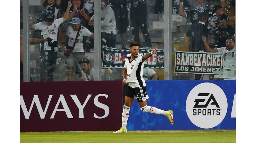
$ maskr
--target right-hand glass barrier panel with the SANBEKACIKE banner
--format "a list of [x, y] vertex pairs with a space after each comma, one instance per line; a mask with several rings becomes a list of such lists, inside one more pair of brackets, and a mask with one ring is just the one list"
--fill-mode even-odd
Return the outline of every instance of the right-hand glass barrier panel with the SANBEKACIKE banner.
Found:
[[[173, 0], [172, 5], [172, 79], [235, 79], [235, 0]], [[203, 66], [204, 58], [209, 65]]]

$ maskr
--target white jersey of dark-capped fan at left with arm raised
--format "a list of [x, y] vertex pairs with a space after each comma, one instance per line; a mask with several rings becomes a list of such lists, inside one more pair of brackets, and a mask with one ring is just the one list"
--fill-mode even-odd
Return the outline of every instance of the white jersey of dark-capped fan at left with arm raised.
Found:
[[[63, 18], [55, 19], [52, 25], [47, 25], [46, 22], [39, 22], [35, 24], [35, 30], [42, 30], [41, 35], [43, 39], [47, 37], [57, 41], [58, 39], [58, 29], [59, 26], [63, 23]], [[42, 42], [41, 46], [44, 46], [44, 50], [52, 50], [52, 48], [48, 45], [48, 42]]]

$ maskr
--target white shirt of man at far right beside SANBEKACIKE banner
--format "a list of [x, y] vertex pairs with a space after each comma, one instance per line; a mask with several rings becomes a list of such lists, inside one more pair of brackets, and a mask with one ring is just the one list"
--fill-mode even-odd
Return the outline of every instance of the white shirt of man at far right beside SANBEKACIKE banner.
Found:
[[[217, 48], [218, 53], [222, 54], [222, 66], [223, 68], [230, 68], [230, 66], [236, 66], [236, 47], [232, 50], [228, 51], [226, 47]], [[233, 59], [233, 60], [232, 60]], [[231, 68], [232, 70], [232, 68]], [[230, 77], [229, 74], [233, 74], [236, 69], [229, 72], [222, 72], [223, 78], [225, 79], [234, 79], [234, 77]], [[235, 75], [236, 78], [236, 75]]]

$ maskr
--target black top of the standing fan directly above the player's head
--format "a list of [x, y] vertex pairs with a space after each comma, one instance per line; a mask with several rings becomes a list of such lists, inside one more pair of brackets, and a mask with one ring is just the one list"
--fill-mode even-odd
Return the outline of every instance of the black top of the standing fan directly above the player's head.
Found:
[[141, 20], [147, 21], [148, 13], [147, 13], [147, 4], [146, 0], [129, 0], [131, 4], [130, 8], [130, 16], [132, 20]]

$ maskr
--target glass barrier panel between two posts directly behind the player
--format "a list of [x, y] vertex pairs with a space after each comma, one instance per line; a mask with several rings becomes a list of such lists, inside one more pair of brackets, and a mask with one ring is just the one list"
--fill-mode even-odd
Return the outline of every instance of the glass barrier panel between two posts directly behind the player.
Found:
[[[159, 14], [162, 10], [155, 9], [155, 0], [102, 0], [102, 60], [103, 68], [110, 70], [111, 80], [123, 79], [125, 57], [133, 41], [140, 44], [139, 54], [155, 48], [164, 54], [163, 13]], [[145, 61], [144, 79], [163, 80], [163, 68], [157, 63], [157, 56], [150, 57]]]

